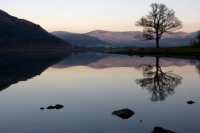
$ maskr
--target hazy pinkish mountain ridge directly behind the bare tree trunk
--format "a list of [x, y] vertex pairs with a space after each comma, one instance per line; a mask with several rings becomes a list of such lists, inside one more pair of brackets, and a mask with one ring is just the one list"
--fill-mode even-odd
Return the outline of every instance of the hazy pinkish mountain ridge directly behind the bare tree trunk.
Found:
[[[140, 31], [112, 32], [96, 30], [86, 33], [86, 35], [96, 37], [118, 47], [155, 47], [155, 42], [153, 40], [144, 40], [143, 33]], [[186, 32], [164, 34], [161, 40], [161, 47], [187, 46], [190, 45], [191, 40], [192, 37]]]

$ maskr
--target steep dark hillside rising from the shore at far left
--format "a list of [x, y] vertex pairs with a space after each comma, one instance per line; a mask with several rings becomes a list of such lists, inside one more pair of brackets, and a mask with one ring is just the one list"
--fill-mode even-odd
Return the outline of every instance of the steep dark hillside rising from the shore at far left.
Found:
[[0, 10], [0, 47], [5, 48], [69, 48], [69, 44], [30, 21]]

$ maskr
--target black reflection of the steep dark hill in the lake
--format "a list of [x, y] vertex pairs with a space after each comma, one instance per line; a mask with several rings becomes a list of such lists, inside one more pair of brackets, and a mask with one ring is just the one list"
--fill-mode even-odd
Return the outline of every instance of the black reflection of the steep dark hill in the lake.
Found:
[[1, 55], [0, 91], [19, 81], [40, 75], [49, 66], [63, 59], [64, 55]]

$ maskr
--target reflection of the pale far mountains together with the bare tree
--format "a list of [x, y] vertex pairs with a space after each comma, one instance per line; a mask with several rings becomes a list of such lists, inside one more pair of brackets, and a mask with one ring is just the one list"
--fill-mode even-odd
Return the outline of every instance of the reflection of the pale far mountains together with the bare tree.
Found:
[[195, 66], [200, 74], [200, 61], [197, 59], [178, 59], [165, 57], [138, 57], [126, 55], [109, 55], [99, 53], [74, 54], [66, 60], [54, 65], [54, 68], [64, 69], [72, 66], [87, 66], [93, 69], [133, 67], [140, 72], [143, 68], [143, 78], [136, 83], [149, 91], [151, 101], [164, 101], [175, 93], [175, 88], [182, 83], [183, 77], [172, 71], [164, 71], [162, 67]]

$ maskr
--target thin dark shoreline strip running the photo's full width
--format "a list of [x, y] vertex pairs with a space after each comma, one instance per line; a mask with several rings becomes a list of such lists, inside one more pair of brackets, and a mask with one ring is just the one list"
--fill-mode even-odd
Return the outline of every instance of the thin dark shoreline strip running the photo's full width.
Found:
[[[200, 47], [173, 47], [173, 48], [73, 48], [71, 52], [100, 52], [108, 54], [125, 54], [139, 56], [165, 56], [200, 58]], [[3, 48], [0, 54], [9, 55], [45, 55], [60, 56], [70, 54], [69, 49], [63, 48]]]

